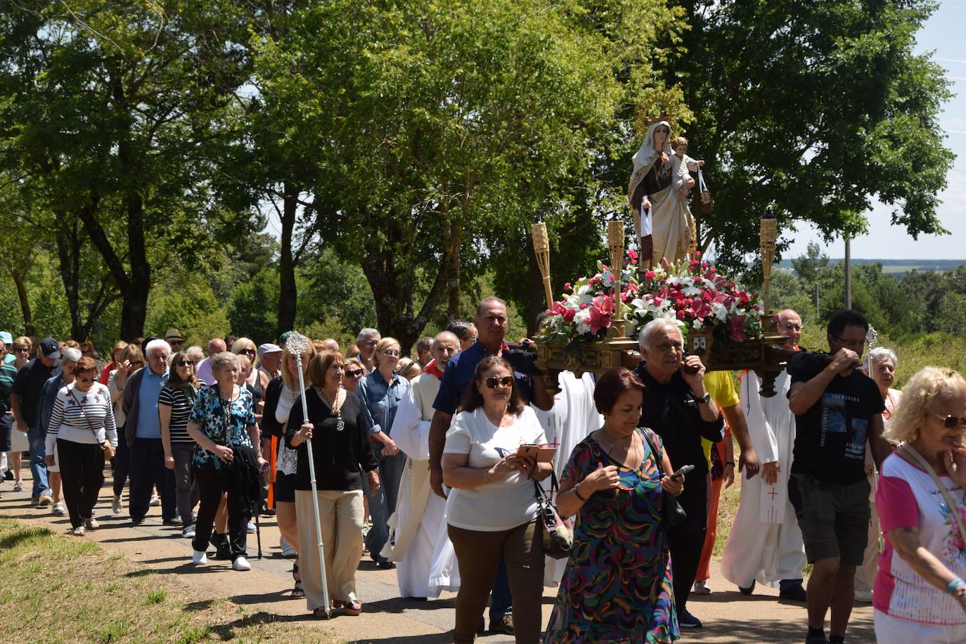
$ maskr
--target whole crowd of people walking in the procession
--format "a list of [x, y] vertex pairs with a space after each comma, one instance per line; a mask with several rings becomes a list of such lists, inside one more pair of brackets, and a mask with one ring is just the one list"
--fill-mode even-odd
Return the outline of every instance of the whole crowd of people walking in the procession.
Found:
[[[754, 372], [707, 372], [668, 320], [640, 331], [637, 369], [564, 372], [554, 396], [507, 322], [486, 297], [412, 357], [373, 328], [345, 351], [311, 340], [298, 355], [291, 332], [204, 351], [168, 329], [119, 342], [108, 364], [89, 343], [0, 332], [0, 471], [20, 490], [29, 454], [32, 502], [80, 537], [99, 528], [109, 462], [110, 512], [128, 484], [130, 521], [159, 505], [198, 566], [250, 570], [252, 519], [274, 516], [295, 557], [291, 595], [317, 616], [360, 614], [368, 556], [396, 569], [401, 597], [457, 591], [454, 641], [487, 628], [489, 605], [489, 630], [525, 643], [700, 629], [689, 596], [718, 583], [718, 497], [744, 476], [722, 576], [803, 603], [807, 644], [843, 642], [869, 601], [880, 642], [966, 641], [959, 374], [926, 368], [900, 392], [895, 352], [865, 355], [861, 314], [833, 315], [828, 350], [808, 351], [785, 310], [791, 357], [774, 396]], [[541, 490], [575, 518], [563, 559], [545, 554]], [[546, 624], [545, 586], [557, 586]]]

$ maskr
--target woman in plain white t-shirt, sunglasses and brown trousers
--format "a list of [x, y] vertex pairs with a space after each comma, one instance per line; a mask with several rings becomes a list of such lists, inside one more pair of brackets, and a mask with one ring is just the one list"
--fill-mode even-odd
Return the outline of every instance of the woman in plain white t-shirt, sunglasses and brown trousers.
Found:
[[502, 358], [480, 360], [462, 409], [446, 433], [442, 454], [442, 480], [453, 489], [446, 503], [448, 533], [462, 578], [453, 641], [473, 641], [502, 558], [510, 577], [516, 641], [537, 642], [543, 534], [527, 474], [532, 471], [539, 481], [550, 475], [551, 463], [516, 454], [521, 445], [546, 445], [547, 439]]

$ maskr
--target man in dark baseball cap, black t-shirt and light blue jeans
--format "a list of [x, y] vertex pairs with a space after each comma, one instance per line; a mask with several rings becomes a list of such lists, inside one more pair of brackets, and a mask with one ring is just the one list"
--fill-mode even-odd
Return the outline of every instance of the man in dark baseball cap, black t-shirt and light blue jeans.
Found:
[[18, 432], [27, 434], [30, 444], [30, 472], [34, 477], [31, 500], [47, 506], [53, 502], [50, 487], [47, 485], [47, 468], [43, 464], [45, 450], [43, 439], [37, 431], [37, 406], [41, 399], [43, 383], [60, 373], [58, 360], [60, 345], [53, 338], [43, 338], [37, 357], [20, 368], [11, 390], [11, 408]]

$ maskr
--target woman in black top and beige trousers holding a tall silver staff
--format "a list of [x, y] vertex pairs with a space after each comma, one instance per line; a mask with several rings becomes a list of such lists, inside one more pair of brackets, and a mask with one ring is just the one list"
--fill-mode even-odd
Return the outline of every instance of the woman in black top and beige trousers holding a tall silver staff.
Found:
[[324, 351], [312, 358], [308, 378], [312, 383], [302, 395], [308, 418], [302, 417], [301, 402], [296, 401], [289, 416], [285, 442], [298, 450], [296, 468], [296, 516], [302, 586], [308, 609], [324, 616], [316, 543], [315, 511], [309, 474], [308, 449], [312, 438], [316, 489], [322, 542], [325, 547], [328, 594], [333, 605], [345, 606], [347, 615], [358, 615], [362, 604], [355, 597], [355, 568], [362, 555], [362, 470], [366, 472], [371, 493], [379, 490], [378, 462], [369, 442], [368, 426], [355, 394], [342, 387], [345, 360], [338, 351]]

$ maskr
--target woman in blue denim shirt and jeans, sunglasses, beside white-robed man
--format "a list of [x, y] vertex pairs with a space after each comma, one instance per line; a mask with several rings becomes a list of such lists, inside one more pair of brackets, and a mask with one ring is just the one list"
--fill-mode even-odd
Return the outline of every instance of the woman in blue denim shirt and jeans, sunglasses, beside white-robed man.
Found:
[[400, 353], [399, 341], [395, 338], [383, 338], [376, 343], [373, 353], [376, 369], [359, 381], [356, 390], [369, 425], [370, 438], [375, 441], [383, 483], [378, 492], [369, 495], [372, 529], [365, 537], [369, 556], [380, 568], [395, 567], [383, 556], [382, 551], [389, 538], [389, 517], [396, 511], [399, 482], [403, 478], [403, 464], [406, 462], [406, 455], [399, 451], [399, 446], [390, 435], [396, 409], [400, 401], [410, 394], [410, 381], [396, 373]]

